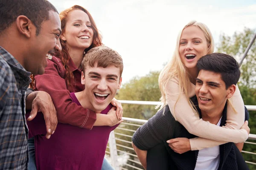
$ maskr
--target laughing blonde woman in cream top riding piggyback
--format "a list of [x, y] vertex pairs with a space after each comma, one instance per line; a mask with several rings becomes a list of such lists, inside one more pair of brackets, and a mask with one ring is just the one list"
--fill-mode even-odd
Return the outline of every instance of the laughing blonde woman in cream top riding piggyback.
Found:
[[[205, 122], [199, 118], [189, 98], [195, 96], [195, 83], [198, 76], [198, 59], [214, 51], [214, 41], [209, 28], [203, 23], [188, 23], [177, 37], [177, 44], [172, 60], [163, 68], [159, 76], [162, 94], [161, 108], [169, 105], [174, 118], [198, 138], [189, 139], [190, 148], [184, 147], [179, 139], [169, 140], [169, 146], [175, 152], [201, 150], [227, 142], [240, 143], [248, 138], [248, 132], [240, 129], [244, 124], [244, 102], [239, 88], [229, 100], [227, 123], [223, 127]], [[211, 102], [211, 99], [201, 99]], [[172, 143], [178, 142], [174, 146]]]

